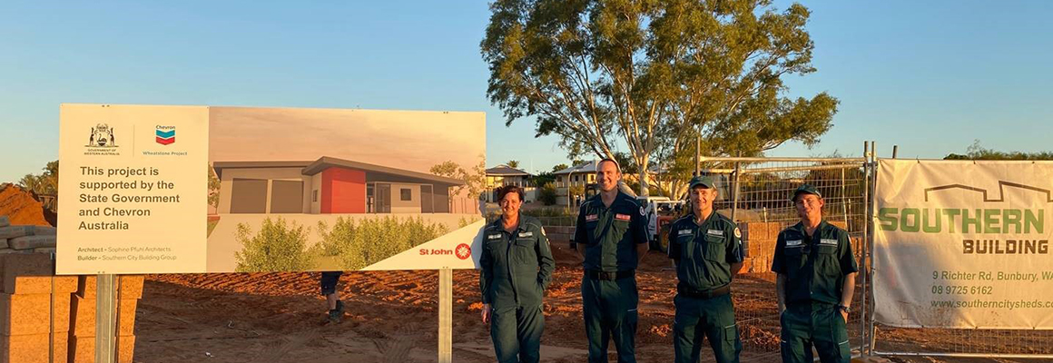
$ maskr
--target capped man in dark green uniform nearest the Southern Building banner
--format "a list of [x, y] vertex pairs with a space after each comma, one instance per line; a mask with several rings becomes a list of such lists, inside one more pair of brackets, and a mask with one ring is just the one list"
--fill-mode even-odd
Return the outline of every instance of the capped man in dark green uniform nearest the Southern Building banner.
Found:
[[791, 200], [800, 223], [779, 234], [772, 261], [782, 362], [812, 362], [815, 345], [822, 363], [849, 363], [846, 323], [858, 271], [852, 242], [845, 229], [822, 219], [824, 202], [815, 187], [801, 185]]

